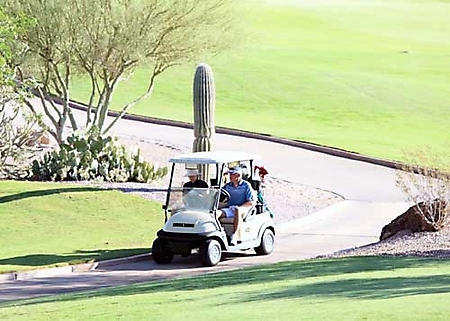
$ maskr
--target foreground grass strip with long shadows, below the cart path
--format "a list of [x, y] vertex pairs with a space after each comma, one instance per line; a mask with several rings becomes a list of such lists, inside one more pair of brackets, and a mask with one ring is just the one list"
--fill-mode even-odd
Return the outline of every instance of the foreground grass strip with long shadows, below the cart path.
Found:
[[0, 304], [2, 320], [447, 320], [450, 263], [356, 257]]

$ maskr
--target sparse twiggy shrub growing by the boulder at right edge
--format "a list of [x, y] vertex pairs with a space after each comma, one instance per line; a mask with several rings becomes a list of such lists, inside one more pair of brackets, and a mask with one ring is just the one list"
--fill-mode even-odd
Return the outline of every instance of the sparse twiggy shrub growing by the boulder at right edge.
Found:
[[[438, 231], [450, 223], [450, 168], [432, 150], [409, 153], [397, 170], [397, 186], [427, 223]], [[420, 165], [418, 165], [420, 164]]]

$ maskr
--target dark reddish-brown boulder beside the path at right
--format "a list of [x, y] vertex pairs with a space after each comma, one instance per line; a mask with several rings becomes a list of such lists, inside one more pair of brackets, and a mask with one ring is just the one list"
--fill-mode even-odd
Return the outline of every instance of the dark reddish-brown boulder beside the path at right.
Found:
[[[420, 210], [419, 210], [420, 209]], [[423, 214], [422, 214], [423, 213]], [[409, 230], [411, 232], [436, 232], [444, 227], [449, 215], [448, 203], [439, 199], [411, 206], [381, 230], [380, 241]]]

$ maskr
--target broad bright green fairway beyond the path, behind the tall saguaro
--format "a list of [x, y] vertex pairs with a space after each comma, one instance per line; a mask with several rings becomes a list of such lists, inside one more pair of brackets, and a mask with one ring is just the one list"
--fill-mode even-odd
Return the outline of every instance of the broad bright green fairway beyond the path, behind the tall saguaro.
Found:
[[[206, 59], [217, 125], [389, 159], [448, 148], [449, 1], [241, 2], [243, 41]], [[163, 74], [130, 112], [191, 122], [195, 65]], [[137, 70], [118, 88], [115, 108], [146, 86]], [[87, 101], [87, 93], [77, 83], [73, 97]]]

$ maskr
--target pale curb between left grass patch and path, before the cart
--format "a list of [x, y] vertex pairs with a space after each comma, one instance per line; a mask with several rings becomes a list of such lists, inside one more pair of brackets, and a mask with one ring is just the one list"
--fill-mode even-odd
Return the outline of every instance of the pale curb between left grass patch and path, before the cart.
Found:
[[126, 264], [132, 262], [146, 261], [152, 258], [151, 253], [146, 254], [138, 254], [123, 258], [92, 262], [92, 263], [82, 263], [61, 267], [53, 267], [53, 268], [44, 268], [39, 270], [31, 270], [31, 271], [16, 271], [0, 274], [0, 283], [4, 282], [15, 282], [15, 281], [26, 281], [32, 280], [36, 278], [44, 278], [44, 277], [55, 277], [55, 276], [63, 276], [71, 273], [77, 272], [89, 272], [99, 268], [105, 268], [108, 266], [114, 266], [119, 264]]

